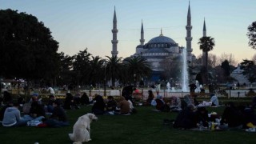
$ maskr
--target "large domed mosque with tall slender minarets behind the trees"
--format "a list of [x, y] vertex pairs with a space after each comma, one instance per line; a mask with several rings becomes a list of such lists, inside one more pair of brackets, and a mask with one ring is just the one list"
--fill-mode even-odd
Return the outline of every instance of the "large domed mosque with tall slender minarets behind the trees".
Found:
[[[151, 68], [153, 70], [153, 75], [151, 80], [157, 81], [160, 78], [160, 74], [163, 71], [163, 68], [161, 66], [161, 62], [170, 59], [170, 58], [177, 58], [181, 57], [182, 50], [186, 50], [187, 52], [187, 61], [193, 62], [195, 59], [194, 54], [192, 54], [192, 37], [191, 37], [191, 14], [190, 14], [190, 4], [188, 6], [188, 12], [187, 12], [187, 22], [186, 22], [186, 48], [182, 46], [178, 46], [178, 43], [174, 41], [174, 39], [166, 37], [161, 34], [158, 37], [150, 39], [149, 42], [144, 43], [144, 30], [143, 30], [143, 23], [141, 26], [141, 38], [140, 38], [140, 45], [136, 47], [136, 53], [132, 56], [142, 56], [146, 58], [148, 62], [150, 62]], [[113, 19], [113, 40], [112, 42], [112, 51], [111, 54], [113, 56], [116, 56], [118, 54], [118, 29], [117, 29], [117, 18], [116, 18], [116, 12], [114, 10], [114, 19]], [[206, 27], [204, 22], [204, 28], [203, 28], [203, 36], [206, 36]], [[204, 54], [203, 54], [204, 55]], [[132, 57], [131, 56], [131, 57]]]

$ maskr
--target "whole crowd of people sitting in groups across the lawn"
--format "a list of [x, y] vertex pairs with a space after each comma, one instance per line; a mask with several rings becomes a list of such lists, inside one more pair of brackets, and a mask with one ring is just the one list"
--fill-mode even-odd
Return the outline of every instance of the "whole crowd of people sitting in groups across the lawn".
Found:
[[[113, 96], [109, 96], [106, 100], [101, 95], [95, 95], [90, 101], [86, 93], [75, 94], [66, 93], [64, 104], [54, 97], [49, 96], [49, 102], [43, 105], [38, 94], [33, 94], [30, 99], [29, 109], [26, 110], [26, 104], [23, 105], [23, 117], [21, 115], [20, 103], [10, 101], [6, 102], [6, 106], [0, 110], [0, 120], [2, 126], [26, 126], [28, 122], [42, 122], [42, 126], [69, 126], [66, 110], [78, 109], [78, 105], [92, 104], [91, 112], [93, 114], [132, 114], [134, 112], [132, 100], [132, 87], [127, 87], [123, 92], [123, 96], [118, 101]], [[210, 94], [210, 102], [212, 106], [218, 106], [218, 97]], [[144, 105], [155, 106], [159, 111], [178, 112], [177, 118], [174, 120], [174, 128], [191, 129], [209, 128], [217, 123], [215, 129], [242, 129], [248, 128], [248, 131], [256, 131], [256, 115], [254, 107], [256, 106], [256, 98], [254, 98], [252, 107], [235, 106], [229, 102], [226, 105], [223, 114], [210, 114], [206, 110], [206, 106], [200, 105], [193, 94], [187, 94], [183, 99], [172, 96], [169, 102], [165, 102], [161, 95], [154, 97], [152, 90], [148, 90], [148, 98]], [[63, 106], [63, 108], [62, 108]], [[47, 117], [46, 112], [50, 113]]]

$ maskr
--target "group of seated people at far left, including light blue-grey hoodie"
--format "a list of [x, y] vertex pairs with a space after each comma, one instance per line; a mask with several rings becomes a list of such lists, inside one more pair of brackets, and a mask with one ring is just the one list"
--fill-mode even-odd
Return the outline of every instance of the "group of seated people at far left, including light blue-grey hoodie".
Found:
[[[23, 106], [21, 114], [21, 105], [18, 102], [10, 101], [1, 109], [2, 126], [34, 126], [37, 124], [41, 126], [69, 126], [67, 121], [66, 111], [62, 108], [61, 102], [57, 99], [50, 97], [52, 113], [46, 117], [46, 110], [50, 106], [44, 106], [38, 94], [32, 95], [30, 102]], [[31, 124], [31, 125], [29, 125]]]

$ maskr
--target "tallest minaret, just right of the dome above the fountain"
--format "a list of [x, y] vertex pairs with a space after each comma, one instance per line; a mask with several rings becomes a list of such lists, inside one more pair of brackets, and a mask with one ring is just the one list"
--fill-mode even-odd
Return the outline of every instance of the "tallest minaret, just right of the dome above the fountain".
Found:
[[191, 47], [191, 41], [192, 41], [192, 37], [191, 37], [191, 30], [192, 30], [192, 26], [191, 26], [191, 14], [190, 14], [190, 3], [189, 3], [189, 10], [187, 12], [187, 22], [186, 22], [186, 51], [187, 51], [187, 60], [188, 61], [192, 61], [192, 47]]

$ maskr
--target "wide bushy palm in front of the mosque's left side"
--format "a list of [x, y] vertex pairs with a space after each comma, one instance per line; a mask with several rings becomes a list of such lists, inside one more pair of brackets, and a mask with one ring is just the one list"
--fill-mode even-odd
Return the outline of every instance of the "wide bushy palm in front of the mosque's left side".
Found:
[[134, 84], [143, 77], [149, 77], [151, 74], [150, 64], [146, 61], [146, 58], [141, 56], [130, 57], [124, 60], [126, 65], [128, 76], [130, 79], [134, 79]]

